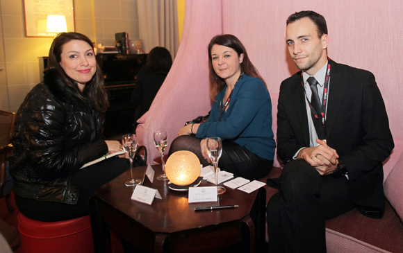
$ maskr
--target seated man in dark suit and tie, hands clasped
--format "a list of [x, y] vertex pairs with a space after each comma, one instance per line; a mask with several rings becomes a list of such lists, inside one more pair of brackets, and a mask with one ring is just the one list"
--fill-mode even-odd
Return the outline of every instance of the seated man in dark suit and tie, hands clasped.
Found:
[[322, 15], [287, 20], [301, 70], [281, 83], [277, 152], [285, 166], [268, 203], [270, 252], [326, 252], [324, 220], [357, 208], [384, 213], [382, 162], [393, 150], [383, 98], [369, 71], [327, 57]]

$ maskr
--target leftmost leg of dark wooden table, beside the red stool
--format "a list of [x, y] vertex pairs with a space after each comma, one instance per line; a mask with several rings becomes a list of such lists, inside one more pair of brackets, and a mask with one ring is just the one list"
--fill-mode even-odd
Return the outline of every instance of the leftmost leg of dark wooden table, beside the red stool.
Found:
[[88, 200], [92, 227], [92, 241], [94, 250], [97, 253], [112, 252], [110, 246], [110, 228], [104, 219], [97, 212], [97, 200], [91, 197]]

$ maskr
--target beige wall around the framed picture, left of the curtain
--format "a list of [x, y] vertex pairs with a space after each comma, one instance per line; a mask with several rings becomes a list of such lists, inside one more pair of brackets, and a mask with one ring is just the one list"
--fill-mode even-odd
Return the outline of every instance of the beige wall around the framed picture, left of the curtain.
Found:
[[[53, 39], [25, 37], [24, 1], [0, 0], [0, 110], [17, 112], [40, 82], [40, 56], [47, 56]], [[137, 0], [74, 1], [76, 32], [97, 43], [113, 44], [115, 33], [138, 39]]]

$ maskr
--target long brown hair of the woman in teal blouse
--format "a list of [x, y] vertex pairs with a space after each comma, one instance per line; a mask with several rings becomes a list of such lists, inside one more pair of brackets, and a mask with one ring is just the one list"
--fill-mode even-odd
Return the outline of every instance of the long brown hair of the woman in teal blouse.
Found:
[[215, 96], [217, 96], [217, 94], [219, 94], [225, 86], [224, 79], [220, 78], [220, 76], [217, 76], [217, 73], [215, 73], [213, 69], [211, 49], [214, 45], [230, 47], [231, 49], [235, 50], [236, 53], [238, 53], [238, 57], [241, 53], [243, 53], [243, 60], [240, 63], [243, 73], [245, 73], [247, 76], [259, 78], [265, 82], [259, 71], [256, 69], [256, 67], [254, 67], [254, 64], [252, 64], [252, 62], [249, 60], [245, 46], [243, 46], [242, 42], [240, 42], [236, 36], [231, 34], [217, 35], [213, 37], [208, 44], [208, 73], [210, 76], [210, 97], [212, 101], [215, 102]]

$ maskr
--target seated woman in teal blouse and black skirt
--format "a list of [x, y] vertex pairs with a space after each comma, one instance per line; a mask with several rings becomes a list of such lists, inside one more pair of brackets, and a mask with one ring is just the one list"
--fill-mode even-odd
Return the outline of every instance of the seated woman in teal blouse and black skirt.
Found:
[[[211, 114], [205, 123], [179, 130], [170, 154], [190, 150], [207, 166], [208, 137], [222, 139], [218, 167], [249, 180], [270, 173], [276, 143], [272, 131], [272, 102], [265, 81], [234, 35], [217, 35], [208, 44]], [[231, 100], [231, 101], [230, 101]]]

